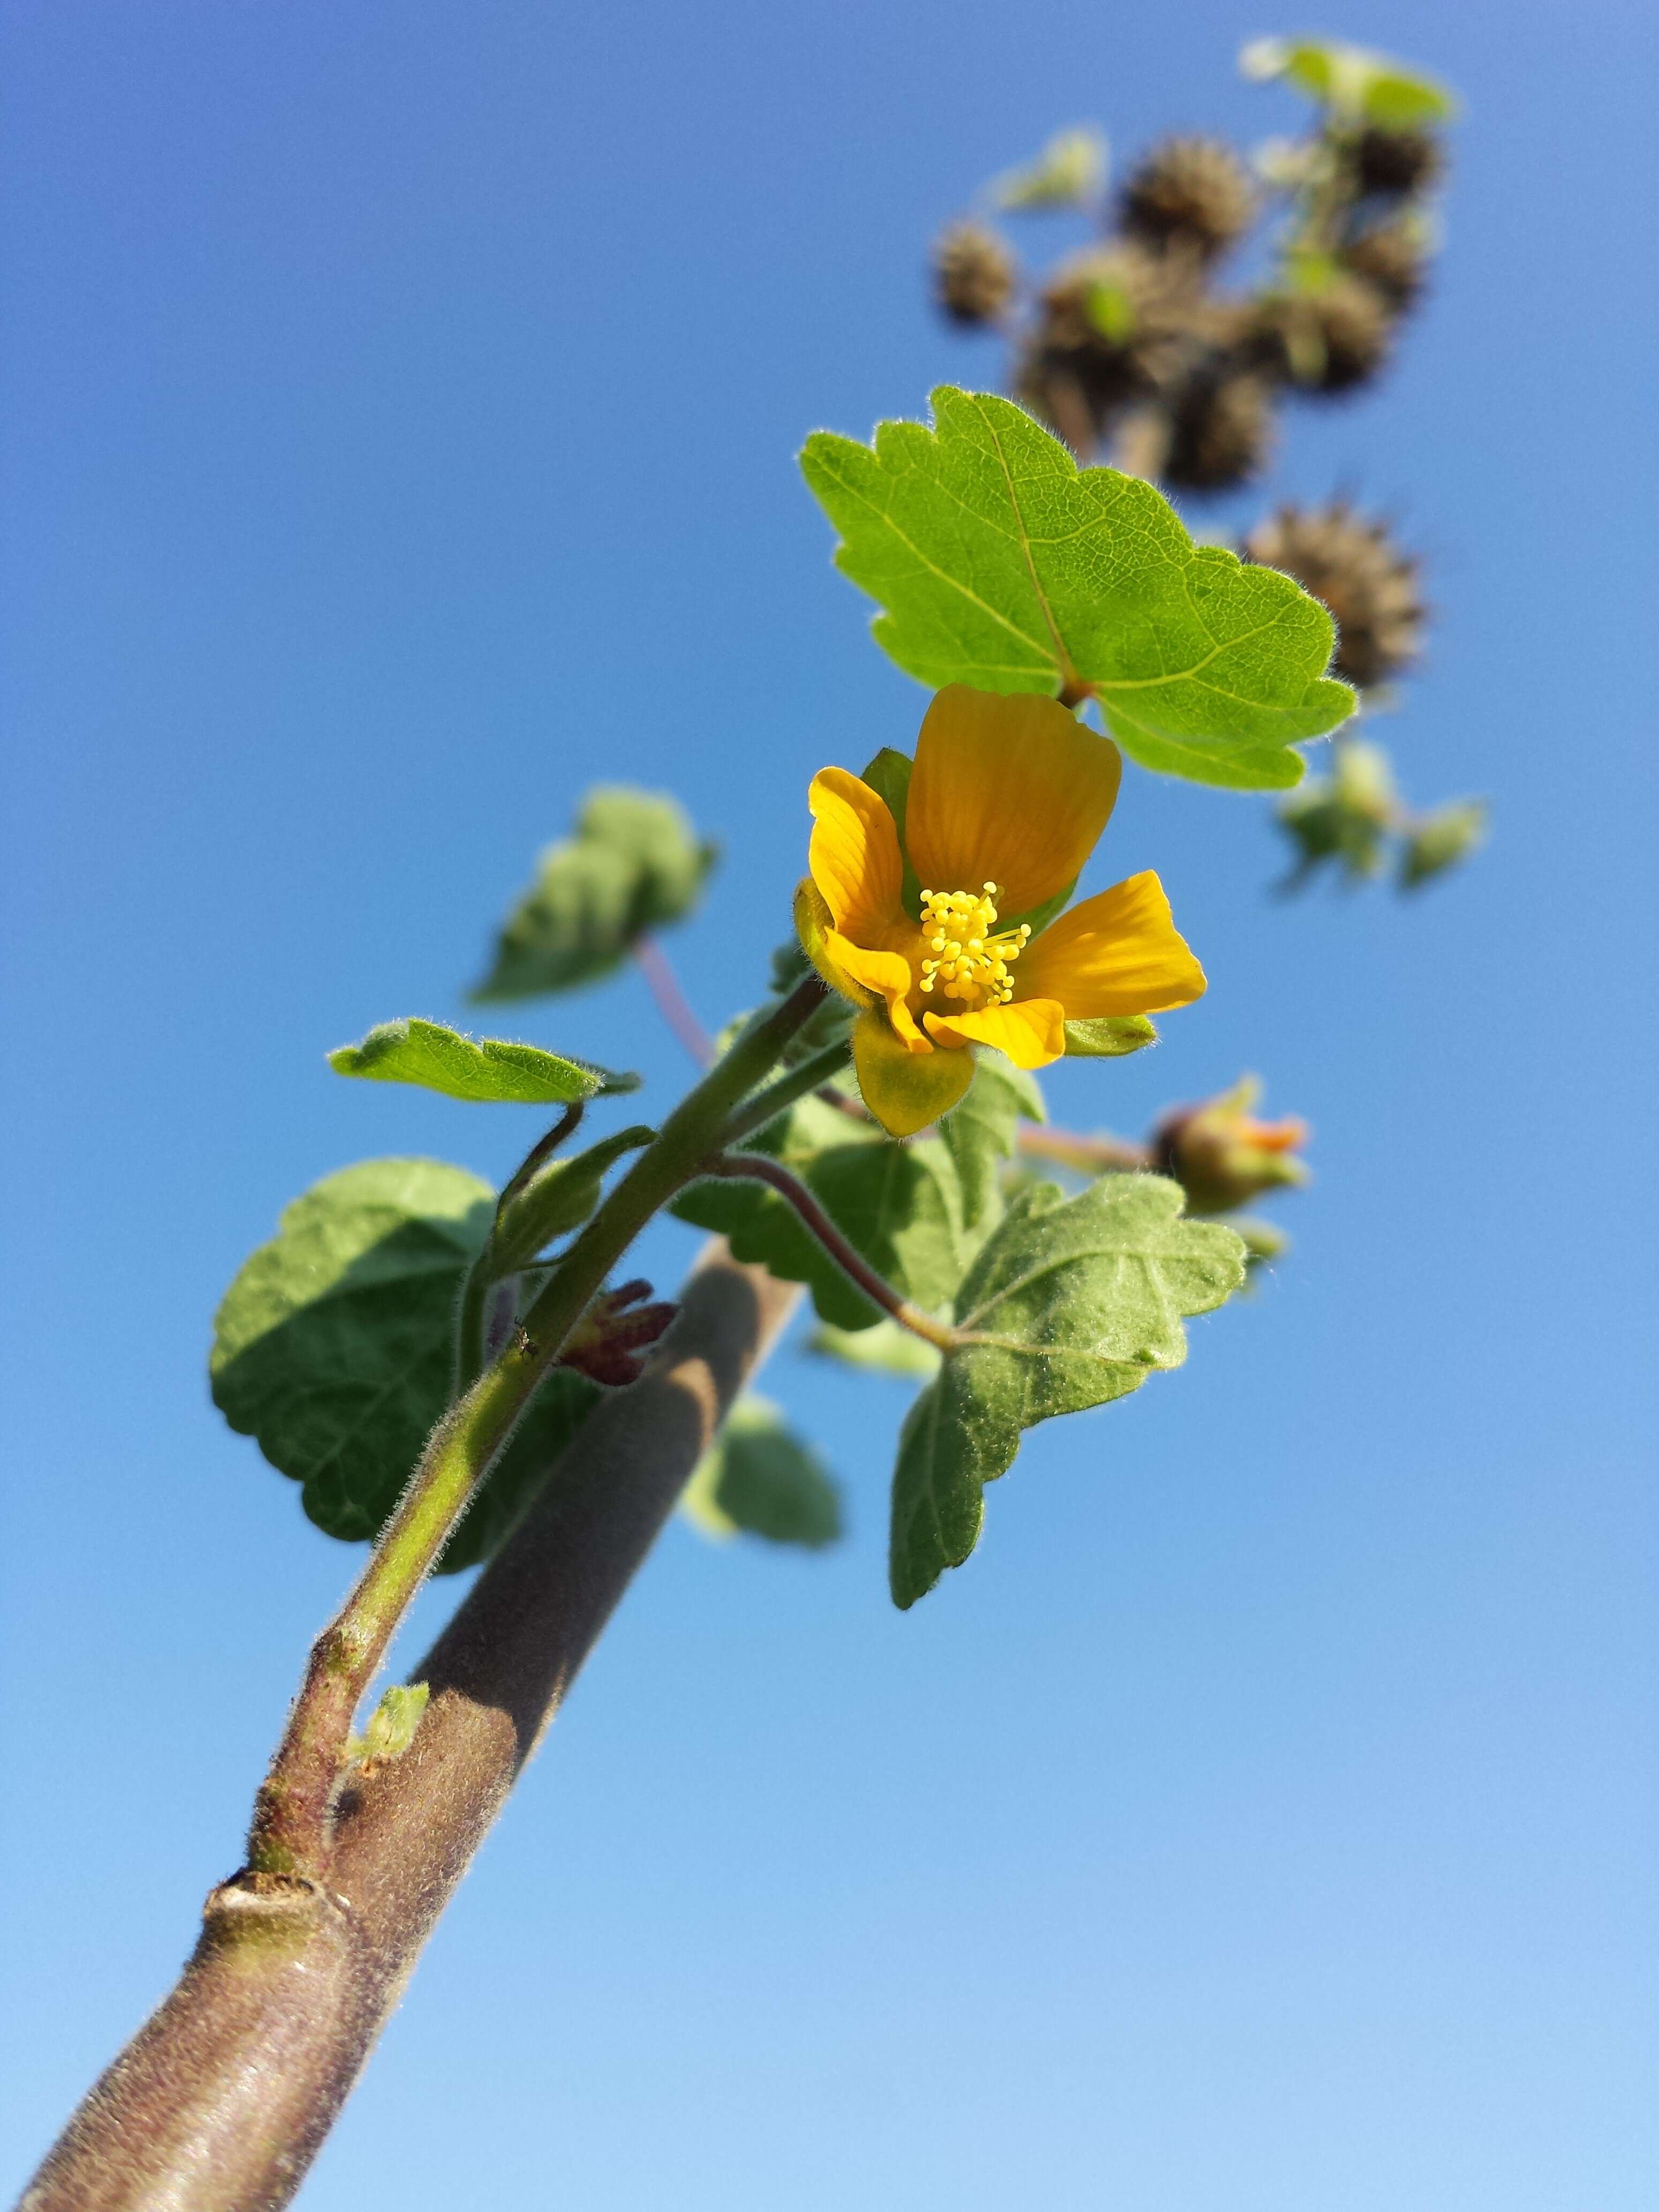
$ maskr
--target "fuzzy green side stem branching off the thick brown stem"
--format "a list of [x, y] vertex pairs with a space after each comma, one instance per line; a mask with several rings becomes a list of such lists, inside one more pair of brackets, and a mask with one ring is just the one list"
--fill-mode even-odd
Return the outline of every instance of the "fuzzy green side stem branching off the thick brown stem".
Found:
[[825, 984], [810, 975], [781, 1006], [750, 1022], [599, 1206], [511, 1343], [438, 1422], [369, 1564], [312, 1646], [283, 1741], [254, 1801], [248, 1838], [254, 1874], [323, 1878], [332, 1845], [330, 1805], [352, 1719], [449, 1531], [606, 1274], [650, 1217], [706, 1172], [706, 1155], [732, 1110], [776, 1066], [783, 1046], [825, 995]]

